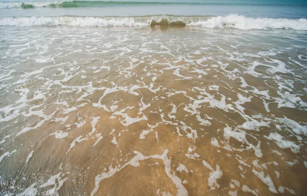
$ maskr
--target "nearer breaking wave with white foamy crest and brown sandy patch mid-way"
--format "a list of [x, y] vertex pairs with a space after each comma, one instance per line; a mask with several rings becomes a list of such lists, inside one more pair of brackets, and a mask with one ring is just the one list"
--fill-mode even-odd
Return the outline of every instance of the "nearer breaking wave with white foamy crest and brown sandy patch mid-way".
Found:
[[[165, 19], [163, 21], [163, 18]], [[227, 16], [176, 16], [153, 15], [133, 17], [6, 17], [0, 18], [0, 26], [93, 26], [93, 27], [141, 27], [155, 25], [199, 26], [204, 28], [251, 29], [293, 29], [307, 30], [307, 19], [250, 18], [237, 14]]]

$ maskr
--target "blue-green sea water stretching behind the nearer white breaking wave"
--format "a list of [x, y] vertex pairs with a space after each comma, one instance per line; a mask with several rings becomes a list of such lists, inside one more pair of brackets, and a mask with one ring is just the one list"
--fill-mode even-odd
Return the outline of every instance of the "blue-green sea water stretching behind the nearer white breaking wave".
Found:
[[[0, 1], [1, 17], [9, 16], [143, 16], [155, 14], [305, 18], [307, 1], [139, 0], [53, 2]], [[3, 9], [6, 8], [6, 9]], [[13, 9], [12, 9], [13, 8]]]

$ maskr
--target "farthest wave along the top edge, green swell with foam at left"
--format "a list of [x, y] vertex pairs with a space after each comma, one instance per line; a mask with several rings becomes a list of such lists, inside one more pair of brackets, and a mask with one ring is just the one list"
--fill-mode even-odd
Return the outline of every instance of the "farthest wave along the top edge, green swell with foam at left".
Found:
[[236, 6], [307, 6], [307, 3], [298, 2], [247, 2], [247, 3], [226, 3], [226, 2], [138, 2], [138, 1], [60, 1], [60, 2], [27, 2], [27, 3], [0, 3], [1, 8], [36, 8], [36, 7], [52, 7], [52, 8], [77, 8], [77, 7], [105, 7], [105, 6], [137, 6], [137, 5], [236, 5]]

